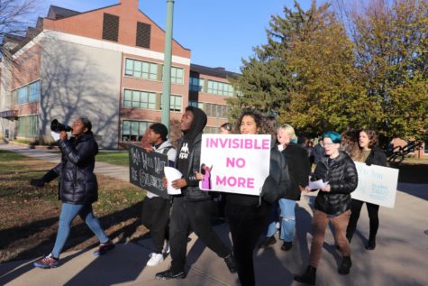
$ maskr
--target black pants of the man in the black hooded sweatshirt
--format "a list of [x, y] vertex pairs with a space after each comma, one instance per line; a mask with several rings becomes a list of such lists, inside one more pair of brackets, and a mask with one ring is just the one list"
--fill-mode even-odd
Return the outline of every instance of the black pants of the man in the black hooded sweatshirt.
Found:
[[184, 272], [187, 254], [187, 236], [190, 230], [215, 254], [224, 258], [231, 250], [211, 226], [214, 204], [211, 200], [189, 202], [183, 197], [174, 198], [169, 222], [169, 246], [171, 250], [171, 271]]

